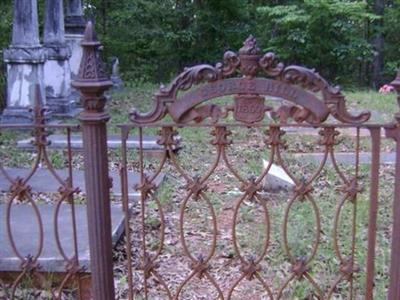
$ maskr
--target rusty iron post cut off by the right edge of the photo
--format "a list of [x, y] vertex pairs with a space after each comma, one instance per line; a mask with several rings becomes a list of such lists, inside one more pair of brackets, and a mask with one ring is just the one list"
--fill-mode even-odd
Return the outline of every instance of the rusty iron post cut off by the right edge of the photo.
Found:
[[[400, 107], [400, 70], [391, 83], [397, 91], [397, 103]], [[400, 299], [400, 112], [395, 115], [396, 123], [386, 129], [386, 136], [396, 142], [396, 167], [393, 201], [393, 229], [390, 259], [390, 285], [388, 300]]]

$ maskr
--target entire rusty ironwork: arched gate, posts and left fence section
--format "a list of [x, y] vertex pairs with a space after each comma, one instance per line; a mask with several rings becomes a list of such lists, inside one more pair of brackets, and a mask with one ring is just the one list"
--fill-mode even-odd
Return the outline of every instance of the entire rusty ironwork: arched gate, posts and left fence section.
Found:
[[[103, 63], [98, 54], [100, 43], [96, 39], [92, 24], [88, 24], [85, 39], [83, 60], [80, 67], [79, 78], [73, 83], [82, 94], [84, 111], [79, 119], [82, 123], [85, 160], [85, 180], [88, 200], [88, 222], [90, 237], [90, 255], [92, 269], [92, 296], [94, 299], [114, 299], [114, 277], [111, 244], [111, 220], [109, 197], [109, 172], [107, 157], [107, 133], [106, 123], [109, 119], [105, 111], [106, 98], [104, 92], [112, 85], [104, 71]], [[400, 72], [392, 83], [398, 91], [400, 103]], [[215, 98], [232, 96], [231, 102], [223, 103]], [[279, 97], [280, 102], [273, 102], [271, 97]], [[210, 102], [209, 102], [210, 101]], [[207, 103], [206, 103], [207, 102]], [[276, 105], [278, 103], [278, 105]], [[0, 164], [0, 171], [10, 183], [10, 197], [7, 202], [6, 224], [8, 239], [15, 255], [21, 262], [21, 273], [12, 280], [12, 292], [22, 284], [23, 279], [29, 274], [39, 282], [45, 282], [38, 265], [38, 258], [43, 250], [43, 228], [37, 204], [32, 199], [32, 188], [29, 179], [34, 175], [39, 164], [45, 162], [52, 175], [59, 179], [59, 200], [57, 202], [54, 222], [57, 247], [66, 261], [66, 273], [62, 283], [51, 290], [55, 299], [61, 298], [62, 289], [68, 282], [78, 280], [83, 276], [83, 270], [79, 266], [77, 257], [77, 236], [74, 230], [75, 256], [65, 255], [58, 232], [57, 219], [61, 203], [69, 203], [72, 208], [72, 220], [74, 220], [74, 197], [79, 190], [74, 188], [72, 181], [72, 154], [68, 148], [69, 178], [63, 181], [51, 164], [47, 155], [47, 130], [51, 127], [45, 123], [44, 110], [36, 107], [34, 110], [35, 123], [31, 126], [35, 137], [37, 160], [33, 170], [24, 178], [12, 178], [6, 169]], [[121, 174], [122, 204], [125, 213], [125, 240], [126, 269], [128, 291], [126, 297], [130, 300], [140, 296], [151, 299], [154, 290], [163, 294], [164, 299], [184, 298], [185, 291], [191, 289], [195, 281], [206, 283], [214, 290], [218, 299], [232, 299], [240, 286], [248, 282], [255, 282], [261, 287], [260, 293], [269, 299], [287, 299], [290, 287], [302, 282], [312, 290], [309, 295], [312, 299], [331, 299], [340, 289], [346, 299], [373, 299], [376, 260], [376, 241], [378, 229], [379, 208], [379, 164], [380, 144], [382, 129], [386, 135], [396, 142], [396, 182], [393, 202], [393, 232], [392, 254], [390, 262], [390, 284], [388, 287], [388, 299], [400, 299], [400, 113], [395, 117], [393, 124], [368, 124], [369, 112], [353, 115], [346, 107], [346, 99], [339, 88], [332, 87], [317, 72], [300, 66], [285, 66], [273, 53], [262, 53], [257, 41], [250, 36], [237, 53], [227, 51], [223, 56], [223, 62], [216, 65], [197, 65], [185, 69], [167, 87], [161, 87], [154, 95], [154, 107], [145, 114], [134, 110], [130, 114], [130, 124], [121, 125], [121, 162], [119, 166]], [[230, 118], [232, 117], [232, 118]], [[167, 121], [165, 121], [167, 120]], [[172, 120], [172, 121], [171, 121]], [[54, 126], [54, 125], [52, 125]], [[26, 128], [26, 125], [3, 125], [3, 128]], [[157, 143], [163, 146], [162, 155], [158, 163], [152, 165], [149, 173], [144, 159], [144, 130], [145, 128], [158, 128], [159, 139]], [[205, 128], [209, 131], [207, 137], [211, 146], [209, 161], [205, 164], [203, 174], [192, 174], [177, 157], [174, 151], [177, 135], [182, 128], [195, 131], [197, 128]], [[305, 174], [297, 176], [291, 161], [286, 157], [287, 149], [284, 134], [288, 128], [315, 128], [319, 130], [316, 144], [322, 149], [323, 157], [316, 168]], [[233, 160], [229, 152], [235, 147], [235, 135], [232, 132], [237, 128], [257, 128], [262, 135], [263, 145], [268, 149], [268, 164], [259, 174], [246, 177], [242, 170], [238, 170], [237, 161]], [[339, 128], [351, 128], [356, 132], [355, 163], [354, 168], [348, 170], [338, 162], [336, 147], [340, 146], [341, 134]], [[72, 127], [65, 127], [68, 133], [68, 143], [71, 142]], [[360, 130], [368, 129], [372, 141], [372, 165], [370, 169], [369, 188], [369, 215], [366, 249], [359, 249], [357, 237], [360, 234], [357, 222], [359, 219], [359, 195], [363, 191], [360, 175]], [[134, 186], [128, 183], [128, 169], [131, 167], [131, 156], [127, 150], [127, 140], [131, 131], [138, 133], [139, 150], [135, 155], [135, 166], [139, 171], [140, 181]], [[261, 133], [263, 132], [263, 133]], [[323, 232], [323, 214], [321, 211], [321, 199], [315, 192], [318, 178], [324, 175], [328, 163], [338, 188], [337, 202], [332, 203], [334, 213], [328, 216], [332, 219], [331, 239], [329, 242], [335, 274], [329, 282], [322, 284], [318, 273], [318, 265], [321, 264], [319, 251], [326, 239]], [[279, 243], [282, 247], [282, 255], [285, 259], [285, 267], [280, 280], [275, 283], [265, 275], [268, 259], [271, 258], [274, 248], [274, 230], [276, 230], [271, 213], [271, 201], [263, 197], [262, 182], [270, 174], [273, 165], [279, 165], [293, 182], [293, 189], [288, 193], [289, 199], [284, 203], [282, 210], [281, 231]], [[221, 284], [215, 268], [215, 261], [221, 242], [220, 228], [217, 222], [217, 210], [210, 193], [211, 178], [218, 173], [218, 168], [223, 166], [224, 174], [238, 183], [238, 196], [232, 205], [232, 216], [229, 220], [230, 232], [224, 241], [228, 241], [232, 247], [232, 256], [237, 263], [238, 272], [230, 274], [232, 277]], [[179, 190], [180, 201], [179, 214], [175, 216], [177, 226], [176, 244], [179, 244], [182, 262], [177, 264], [177, 273], [182, 278], [173, 282], [164, 278], [160, 268], [166, 263], [164, 254], [171, 250], [170, 247], [178, 245], [167, 241], [168, 219], [166, 208], [163, 205], [157, 189], [156, 179], [161, 172], [174, 172], [182, 182]], [[132, 203], [129, 199], [129, 191], [140, 192], [137, 203], [137, 213], [132, 213]], [[26, 201], [33, 207], [37, 217], [40, 234], [38, 247], [35, 253], [24, 257], [15, 245], [13, 232], [10, 226], [10, 214], [16, 201]], [[149, 232], [148, 214], [149, 202], [152, 201], [152, 209], [158, 222], [157, 243], [150, 244], [152, 233]], [[188, 221], [188, 209], [192, 203], [205, 208], [204, 215], [209, 222], [208, 241], [205, 247], [199, 247], [193, 251], [190, 240], [185, 234], [185, 222]], [[135, 205], [135, 204], [133, 204]], [[242, 248], [239, 234], [239, 223], [243, 222], [241, 209], [245, 206], [257, 206], [260, 219], [263, 223], [262, 231], [264, 239], [260, 241], [259, 251], [248, 255]], [[300, 206], [309, 214], [308, 221], [312, 222], [310, 230], [311, 240], [307, 243], [307, 251], [304, 255], [298, 255], [293, 247], [289, 233], [291, 215], [295, 206]], [[345, 210], [349, 208], [350, 213]], [[344, 250], [341, 243], [344, 237], [340, 232], [341, 219], [347, 217], [349, 234], [349, 249]], [[133, 227], [136, 224], [137, 227]], [[137, 238], [137, 239], [136, 239]], [[168, 248], [167, 248], [168, 242]], [[366, 253], [365, 265], [361, 265], [358, 251]], [[169, 255], [169, 254], [167, 254]], [[168, 256], [167, 256], [168, 257]], [[273, 257], [272, 257], [273, 259]], [[167, 258], [168, 260], [168, 258]], [[170, 265], [168, 265], [171, 268]], [[365, 283], [359, 287], [359, 274], [365, 275]], [[138, 279], [140, 277], [140, 280]], [[136, 289], [136, 281], [140, 281], [142, 288]], [[87, 282], [85, 283], [87, 286]], [[360, 290], [362, 289], [362, 290]], [[85, 297], [87, 289], [79, 287], [79, 295]]]

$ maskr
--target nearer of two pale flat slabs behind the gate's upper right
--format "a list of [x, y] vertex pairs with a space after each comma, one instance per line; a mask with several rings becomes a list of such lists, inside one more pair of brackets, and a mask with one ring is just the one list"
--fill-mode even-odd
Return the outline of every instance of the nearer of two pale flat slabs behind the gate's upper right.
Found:
[[[293, 156], [297, 159], [306, 160], [309, 162], [319, 163], [324, 157], [323, 153], [296, 153]], [[381, 164], [394, 164], [396, 162], [396, 153], [395, 152], [381, 152], [380, 155]], [[371, 164], [371, 153], [370, 152], [361, 152], [360, 153], [360, 163], [361, 164]], [[339, 163], [343, 164], [354, 164], [356, 162], [355, 153], [351, 152], [336, 152], [335, 159]], [[327, 161], [328, 164], [331, 164], [331, 159]]]

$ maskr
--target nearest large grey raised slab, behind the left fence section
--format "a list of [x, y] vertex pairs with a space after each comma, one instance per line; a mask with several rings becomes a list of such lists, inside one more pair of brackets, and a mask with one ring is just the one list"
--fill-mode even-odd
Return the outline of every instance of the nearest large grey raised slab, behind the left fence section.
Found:
[[[43, 250], [38, 259], [44, 272], [65, 272], [66, 261], [61, 256], [54, 233], [55, 205], [38, 205], [43, 222]], [[86, 205], [75, 205], [79, 263], [90, 272], [89, 237], [87, 231]], [[21, 260], [11, 248], [6, 230], [6, 206], [0, 205], [0, 272], [21, 270]], [[111, 206], [113, 246], [124, 231], [124, 213], [120, 205]], [[58, 218], [59, 237], [62, 248], [68, 257], [74, 254], [71, 206], [63, 204]], [[38, 249], [39, 228], [29, 204], [13, 205], [11, 210], [11, 228], [14, 242], [23, 257], [35, 255]]]

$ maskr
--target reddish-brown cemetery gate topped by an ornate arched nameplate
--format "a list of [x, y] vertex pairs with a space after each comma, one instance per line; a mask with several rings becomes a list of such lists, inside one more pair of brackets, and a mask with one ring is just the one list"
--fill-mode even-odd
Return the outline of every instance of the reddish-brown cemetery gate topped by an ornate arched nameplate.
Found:
[[[226, 96], [233, 96], [233, 102], [226, 100]], [[225, 102], [221, 100], [225, 97]], [[275, 97], [271, 100], [271, 97]], [[220, 100], [213, 101], [216, 98]], [[276, 101], [276, 98], [285, 101]], [[269, 116], [269, 117], [268, 117]], [[185, 69], [167, 87], [161, 87], [154, 96], [153, 109], [147, 114], [133, 111], [130, 114], [131, 124], [122, 125], [122, 178], [123, 178], [123, 201], [126, 211], [126, 266], [128, 272], [129, 299], [141, 295], [145, 299], [294, 299], [294, 295], [287, 292], [289, 287], [298, 281], [306, 282], [312, 291], [303, 295], [307, 299], [332, 299], [340, 290], [341, 299], [373, 299], [375, 285], [375, 259], [377, 239], [377, 217], [378, 217], [378, 187], [379, 187], [379, 164], [381, 132], [386, 129], [388, 137], [397, 141], [399, 134], [398, 125], [392, 127], [382, 124], [370, 124], [369, 112], [352, 114], [346, 107], [345, 97], [340, 89], [330, 86], [314, 70], [300, 66], [284, 66], [273, 53], [261, 54], [255, 38], [250, 36], [238, 53], [228, 51], [224, 54], [223, 63], [212, 65], [197, 65]], [[146, 168], [146, 160], [143, 153], [143, 135], [148, 128], [157, 128], [160, 138], [158, 144], [164, 147], [161, 159], [153, 165], [151, 172]], [[285, 158], [285, 143], [282, 138], [285, 130], [293, 129], [301, 133], [307, 128], [319, 132], [318, 145], [323, 153], [317, 168], [311, 173], [297, 176], [296, 165], [291, 165]], [[176, 136], [180, 131], [192, 131], [194, 135], [203, 137], [204, 144], [211, 145], [209, 155], [205, 156], [203, 163], [207, 165], [202, 171], [190, 172], [188, 170], [199, 170], [199, 166], [184, 166], [184, 161], [179, 160], [173, 149], [176, 146]], [[209, 137], [201, 135], [205, 130]], [[236, 143], [233, 132], [245, 130], [248, 134], [244, 138], [251, 149], [251, 130], [263, 132], [258, 147], [268, 149], [268, 163], [259, 174], [246, 177], [241, 172], [238, 161], [229, 157], [229, 149], [234, 148]], [[351, 172], [343, 170], [336, 160], [335, 146], [340, 145], [340, 132], [353, 130], [354, 142], [354, 167]], [[367, 131], [371, 141], [372, 164], [370, 167], [369, 180], [369, 202], [368, 217], [365, 226], [365, 243], [360, 245], [356, 242], [360, 234], [357, 227], [357, 205], [362, 202], [358, 200], [362, 192], [360, 184], [360, 132]], [[132, 187], [127, 182], [127, 169], [131, 166], [127, 158], [126, 142], [130, 132], [136, 132], [139, 138], [140, 150], [138, 153], [138, 169], [140, 172], [140, 184]], [[205, 140], [205, 143], [204, 143]], [[196, 147], [196, 146], [195, 146]], [[397, 146], [398, 147], [398, 146]], [[243, 149], [243, 148], [242, 148]], [[398, 148], [397, 148], [398, 149]], [[190, 148], [187, 149], [190, 151]], [[182, 150], [181, 155], [186, 149]], [[208, 150], [205, 150], [208, 151]], [[243, 151], [243, 150], [241, 150]], [[398, 152], [397, 152], [398, 153]], [[128, 153], [129, 154], [129, 153]], [[203, 157], [204, 159], [204, 157]], [[258, 157], [261, 163], [261, 157]], [[189, 161], [199, 164], [198, 161]], [[322, 176], [323, 170], [329, 163], [334, 170], [340, 187], [331, 189], [331, 193], [337, 195], [334, 203], [334, 213], [330, 215], [333, 223], [330, 233], [323, 233], [322, 215], [320, 205], [323, 204], [324, 196], [316, 195], [313, 190], [316, 181]], [[190, 164], [189, 163], [189, 164]], [[201, 164], [201, 162], [200, 162]], [[220, 257], [220, 242], [223, 234], [216, 214], [213, 194], [218, 194], [212, 188], [210, 178], [217, 174], [219, 166], [224, 165], [222, 176], [229, 176], [237, 182], [236, 200], [233, 201], [232, 214], [228, 215], [229, 238], [223, 242], [232, 245], [232, 253], [229, 259], [236, 259], [236, 266], [231, 267], [230, 272], [223, 272], [223, 267], [216, 262]], [[280, 240], [285, 257], [284, 275], [279, 283], [275, 282], [278, 277], [279, 268], [273, 267], [274, 244], [273, 228], [271, 225], [273, 196], [263, 194], [263, 182], [268, 176], [273, 164], [279, 165], [294, 183], [294, 188], [288, 196], [284, 205], [282, 218], [282, 230], [278, 239]], [[186, 168], [185, 168], [186, 167]], [[398, 163], [396, 170], [398, 172]], [[173, 186], [179, 206], [178, 220], [171, 222], [166, 218], [166, 208], [160, 200], [155, 181], [161, 172], [173, 174], [180, 182]], [[298, 173], [298, 172], [297, 172]], [[218, 173], [221, 174], [220, 172]], [[396, 173], [398, 174], [398, 173]], [[250, 174], [247, 174], [250, 175]], [[396, 177], [397, 178], [397, 177]], [[393, 248], [391, 259], [391, 283], [388, 288], [388, 299], [400, 299], [400, 277], [399, 277], [399, 187], [396, 181], [396, 205], [394, 211]], [[141, 192], [140, 204], [136, 207], [136, 213], [132, 215], [128, 193], [130, 189]], [[170, 201], [172, 201], [170, 199]], [[325, 200], [326, 201], [326, 200]], [[153, 208], [151, 208], [153, 203]], [[203, 216], [208, 218], [208, 226], [203, 226], [209, 231], [207, 238], [201, 243], [190, 247], [191, 241], [188, 237], [196, 234], [185, 230], [187, 222], [192, 222], [190, 215], [191, 203], [202, 205], [206, 210]], [[246, 203], [257, 206], [259, 212], [253, 212], [252, 216], [260, 216], [264, 224], [263, 242], [258, 244], [258, 254], [245, 251], [240, 243], [238, 226], [243, 222], [240, 210]], [[290, 239], [289, 224], [292, 218], [291, 210], [297, 203], [304, 205], [308, 203], [315, 223], [313, 225], [313, 238], [309, 242], [306, 251], [302, 255], [296, 254]], [[350, 224], [348, 236], [340, 234], [340, 219], [346, 205], [351, 206], [351, 214], [347, 215]], [[168, 208], [167, 208], [168, 209]], [[153, 216], [148, 211], [153, 210]], [[158, 229], [158, 238], [154, 245], [154, 230], [146, 218], [155, 218]], [[189, 219], [189, 220], [188, 220]], [[204, 224], [203, 224], [204, 225]], [[223, 226], [223, 225], [221, 225]], [[301, 224], [297, 224], [301, 226]], [[179, 241], [168, 241], [168, 232], [177, 228], [176, 235]], [[198, 226], [197, 230], [201, 231]], [[195, 229], [196, 230], [196, 229]], [[254, 228], [253, 228], [254, 230]], [[325, 229], [324, 229], [325, 230]], [[170, 234], [171, 235], [171, 234]], [[246, 235], [246, 233], [244, 234]], [[318, 272], [314, 272], [316, 266], [323, 264], [324, 259], [319, 256], [319, 247], [324, 242], [323, 235], [332, 236], [330, 248], [333, 251], [335, 276], [329, 282], [323, 282]], [[192, 238], [193, 239], [193, 238]], [[349, 241], [349, 251], [342, 247], [341, 240]], [[172, 244], [172, 246], [171, 246]], [[243, 243], [242, 243], [243, 244]], [[175, 248], [177, 250], [171, 250]], [[140, 251], [138, 250], [140, 249]], [[179, 259], [172, 260], [171, 252], [177, 253]], [[365, 259], [360, 265], [357, 256], [360, 251], [365, 252]], [[253, 251], [254, 252], [254, 251]], [[273, 254], [271, 254], [273, 253]], [[396, 255], [397, 253], [397, 255]], [[172, 260], [172, 263], [168, 263]], [[325, 261], [325, 263], [331, 263]], [[160, 271], [163, 269], [164, 271]], [[228, 267], [227, 267], [228, 268]], [[318, 268], [318, 267], [317, 267]], [[275, 270], [268, 273], [265, 270]], [[139, 272], [139, 275], [137, 273]], [[140, 272], [141, 275], [140, 275]], [[233, 274], [232, 274], [233, 273]], [[172, 275], [171, 275], [172, 274]], [[360, 274], [363, 274], [362, 276]], [[226, 276], [227, 279], [222, 278]], [[267, 278], [266, 278], [267, 277]], [[358, 281], [363, 281], [361, 284]], [[139, 282], [139, 283], [138, 283]], [[251, 286], [250, 290], [240, 288], [249, 282], [257, 282], [258, 287]], [[202, 284], [205, 283], [205, 286]], [[196, 290], [191, 293], [190, 289]], [[185, 296], [184, 291], [185, 292]], [[214, 292], [209, 292], [213, 290]], [[238, 291], [240, 290], [240, 291]], [[252, 291], [256, 291], [252, 294]], [[208, 293], [208, 294], [207, 294]], [[206, 296], [207, 294], [208, 296]], [[196, 296], [197, 295], [197, 296]], [[343, 296], [344, 295], [344, 296]], [[262, 298], [264, 297], [264, 298]], [[383, 299], [381, 294], [376, 299]]]

